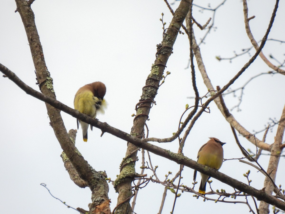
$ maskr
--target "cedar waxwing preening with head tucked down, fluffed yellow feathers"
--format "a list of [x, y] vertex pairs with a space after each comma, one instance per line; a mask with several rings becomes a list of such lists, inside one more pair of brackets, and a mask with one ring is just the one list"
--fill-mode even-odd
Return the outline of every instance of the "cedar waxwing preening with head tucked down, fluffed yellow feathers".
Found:
[[[104, 114], [107, 102], [104, 100], [106, 86], [102, 82], [93, 82], [78, 89], [74, 97], [74, 109], [92, 118], [96, 117], [97, 112]], [[83, 140], [87, 142], [87, 130], [89, 124], [77, 119], [77, 129], [80, 122]], [[91, 131], [93, 126], [90, 126]]]

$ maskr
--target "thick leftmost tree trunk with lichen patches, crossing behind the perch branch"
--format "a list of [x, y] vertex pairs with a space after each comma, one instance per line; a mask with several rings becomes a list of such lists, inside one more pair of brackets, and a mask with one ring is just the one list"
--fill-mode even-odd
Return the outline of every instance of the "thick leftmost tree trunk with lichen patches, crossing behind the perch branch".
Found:
[[[34, 13], [30, 7], [33, 1], [15, 1], [17, 5], [17, 11], [21, 16], [27, 34], [30, 51], [32, 54], [32, 60], [34, 62], [34, 67], [36, 70], [38, 85], [40, 87], [40, 91], [42, 92], [41, 96], [44, 96], [46, 98], [48, 97], [50, 100], [56, 100], [52, 85], [52, 78], [50, 77], [50, 73], [47, 69], [44, 60], [42, 45], [40, 43], [40, 38], [36, 29]], [[1, 68], [3, 68], [2, 65]], [[5, 68], [4, 70], [8, 71]], [[8, 75], [7, 76], [11, 78], [11, 75], [13, 76], [15, 74], [10, 73], [10, 77]], [[15, 79], [17, 79], [16, 76], [14, 77]], [[108, 198], [109, 187], [107, 181], [105, 180], [104, 173], [102, 174], [101, 172], [97, 172], [92, 169], [92, 167], [87, 163], [87, 161], [84, 160], [82, 156], [77, 154], [76, 147], [72, 143], [70, 137], [68, 136], [66, 128], [64, 127], [64, 123], [60, 115], [60, 110], [54, 108], [53, 106], [47, 103], [46, 109], [50, 118], [50, 125], [54, 130], [55, 136], [58, 142], [60, 143], [62, 150], [67, 155], [68, 159], [70, 160], [80, 177], [84, 181], [86, 181], [88, 183], [88, 186], [90, 187], [90, 190], [92, 192], [92, 204], [90, 206], [90, 211], [92, 213], [97, 213], [98, 209], [96, 207], [98, 205], [104, 205], [104, 211], [106, 211], [106, 213], [110, 213]]]

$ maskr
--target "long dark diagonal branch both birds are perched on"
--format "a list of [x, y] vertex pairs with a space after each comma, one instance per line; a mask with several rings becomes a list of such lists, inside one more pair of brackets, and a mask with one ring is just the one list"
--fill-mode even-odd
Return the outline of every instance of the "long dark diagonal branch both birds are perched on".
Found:
[[276, 197], [269, 195], [265, 193], [263, 190], [257, 190], [249, 185], [246, 185], [245, 183], [242, 183], [236, 179], [233, 179], [215, 169], [209, 168], [207, 166], [201, 165], [197, 163], [196, 161], [193, 161], [187, 157], [185, 157], [183, 154], [177, 154], [170, 152], [168, 150], [164, 150], [158, 146], [152, 145], [150, 143], [144, 142], [143, 140], [136, 138], [134, 136], [131, 136], [130, 134], [126, 132], [122, 132], [121, 130], [118, 130], [112, 126], [109, 126], [107, 123], [102, 123], [98, 121], [97, 119], [93, 119], [85, 114], [82, 114], [64, 104], [61, 102], [54, 100], [48, 96], [45, 96], [44, 94], [37, 92], [36, 90], [30, 88], [25, 83], [23, 83], [13, 72], [11, 72], [8, 68], [0, 64], [0, 70], [3, 72], [9, 79], [11, 79], [13, 82], [15, 82], [21, 89], [23, 89], [27, 94], [31, 94], [32, 96], [38, 98], [39, 100], [42, 100], [50, 105], [52, 105], [55, 108], [58, 108], [59, 110], [62, 110], [66, 112], [67, 114], [70, 114], [71, 116], [78, 118], [84, 122], [87, 122], [91, 124], [94, 127], [100, 128], [104, 132], [108, 132], [118, 138], [121, 138], [125, 140], [126, 142], [130, 142], [131, 144], [134, 144], [135, 146], [139, 148], [143, 148], [149, 152], [152, 152], [156, 155], [159, 155], [161, 157], [167, 158], [169, 160], [175, 161], [178, 164], [183, 164], [187, 167], [190, 167], [192, 169], [195, 169], [197, 171], [200, 171], [206, 175], [210, 175], [211, 177], [214, 177], [218, 179], [219, 181], [222, 181], [223, 183], [226, 183], [233, 188], [236, 188], [240, 191], [243, 191], [249, 195], [252, 195], [256, 197], [258, 200], [265, 201], [266, 203], [269, 203], [271, 205], [274, 205], [282, 210], [285, 210], [285, 203]]

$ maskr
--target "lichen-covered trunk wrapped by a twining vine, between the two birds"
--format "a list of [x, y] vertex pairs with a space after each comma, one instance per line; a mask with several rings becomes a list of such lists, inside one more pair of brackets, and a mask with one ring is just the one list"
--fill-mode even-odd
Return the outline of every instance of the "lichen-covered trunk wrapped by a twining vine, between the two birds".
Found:
[[[141, 95], [141, 99], [139, 100], [140, 104], [137, 107], [137, 115], [134, 119], [133, 127], [131, 129], [132, 136], [136, 136], [137, 138], [141, 138], [143, 136], [142, 132], [144, 129], [144, 124], [148, 119], [151, 104], [157, 94], [159, 82], [162, 79], [166, 63], [168, 61], [168, 58], [172, 54], [174, 42], [176, 41], [178, 32], [189, 11], [189, 7], [190, 0], [183, 0], [180, 2], [180, 5], [176, 9], [172, 21], [164, 35], [162, 43], [157, 45], [156, 60], [151, 66], [151, 72], [147, 76], [146, 84], [143, 87], [143, 93]], [[135, 162], [129, 160], [136, 159], [137, 152], [133, 152], [136, 149], [136, 145], [128, 144], [126, 157], [129, 156], [129, 158], [125, 158], [124, 161], [121, 163], [121, 166], [124, 167], [121, 168], [119, 176], [114, 181], [114, 187], [119, 193], [117, 205], [120, 204], [120, 206], [116, 209], [115, 213], [117, 214], [133, 213], [129, 200], [126, 201], [126, 199], [130, 199], [131, 195], [133, 195], [131, 184], [136, 174]], [[130, 154], [132, 155], [130, 156]], [[123, 201], [125, 202], [122, 203]]]

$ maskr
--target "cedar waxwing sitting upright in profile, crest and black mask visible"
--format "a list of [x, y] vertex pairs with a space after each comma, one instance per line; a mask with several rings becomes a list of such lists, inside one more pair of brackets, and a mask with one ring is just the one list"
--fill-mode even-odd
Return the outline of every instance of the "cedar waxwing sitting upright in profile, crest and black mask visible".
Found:
[[[197, 162], [219, 170], [224, 159], [224, 150], [222, 147], [224, 144], [225, 143], [222, 143], [217, 138], [210, 138], [210, 140], [200, 148]], [[194, 181], [196, 181], [196, 175], [197, 171], [195, 170]], [[199, 193], [205, 194], [207, 180], [210, 178], [210, 176], [201, 173], [201, 177], [202, 179], [199, 187]]]

